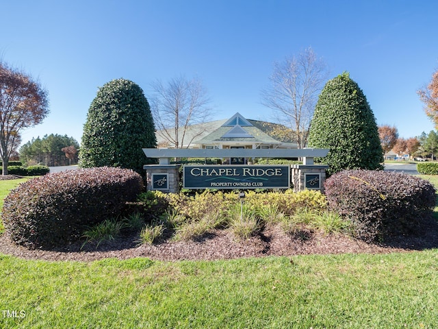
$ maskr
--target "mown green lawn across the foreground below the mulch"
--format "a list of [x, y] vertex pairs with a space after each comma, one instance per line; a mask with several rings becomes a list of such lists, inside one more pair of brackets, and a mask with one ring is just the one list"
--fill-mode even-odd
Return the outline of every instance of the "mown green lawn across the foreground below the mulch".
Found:
[[0, 328], [438, 328], [438, 249], [92, 263], [0, 254], [0, 287]]

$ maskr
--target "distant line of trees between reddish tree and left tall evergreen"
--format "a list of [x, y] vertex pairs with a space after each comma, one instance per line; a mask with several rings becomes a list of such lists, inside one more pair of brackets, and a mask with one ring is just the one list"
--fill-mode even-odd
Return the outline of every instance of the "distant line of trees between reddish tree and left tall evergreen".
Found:
[[44, 164], [45, 166], [67, 166], [77, 163], [79, 143], [67, 135], [50, 134], [43, 138], [32, 138], [20, 147], [20, 160], [29, 166]]

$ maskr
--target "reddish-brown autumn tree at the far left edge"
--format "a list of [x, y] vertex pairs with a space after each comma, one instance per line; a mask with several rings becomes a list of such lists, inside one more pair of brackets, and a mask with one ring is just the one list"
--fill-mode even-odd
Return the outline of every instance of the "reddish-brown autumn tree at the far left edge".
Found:
[[0, 62], [0, 158], [3, 175], [20, 130], [40, 123], [49, 113], [47, 91], [34, 80]]

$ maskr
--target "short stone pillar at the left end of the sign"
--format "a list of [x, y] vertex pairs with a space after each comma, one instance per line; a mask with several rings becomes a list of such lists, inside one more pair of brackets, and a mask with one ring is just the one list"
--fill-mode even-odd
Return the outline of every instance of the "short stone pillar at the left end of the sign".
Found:
[[179, 167], [179, 164], [145, 164], [146, 190], [178, 193]]

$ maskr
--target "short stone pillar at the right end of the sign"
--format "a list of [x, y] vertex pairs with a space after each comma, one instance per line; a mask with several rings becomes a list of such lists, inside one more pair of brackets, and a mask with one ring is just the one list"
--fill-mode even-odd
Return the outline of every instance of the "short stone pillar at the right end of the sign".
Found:
[[326, 169], [329, 169], [329, 166], [325, 164], [292, 164], [294, 192], [304, 190], [324, 192]]

